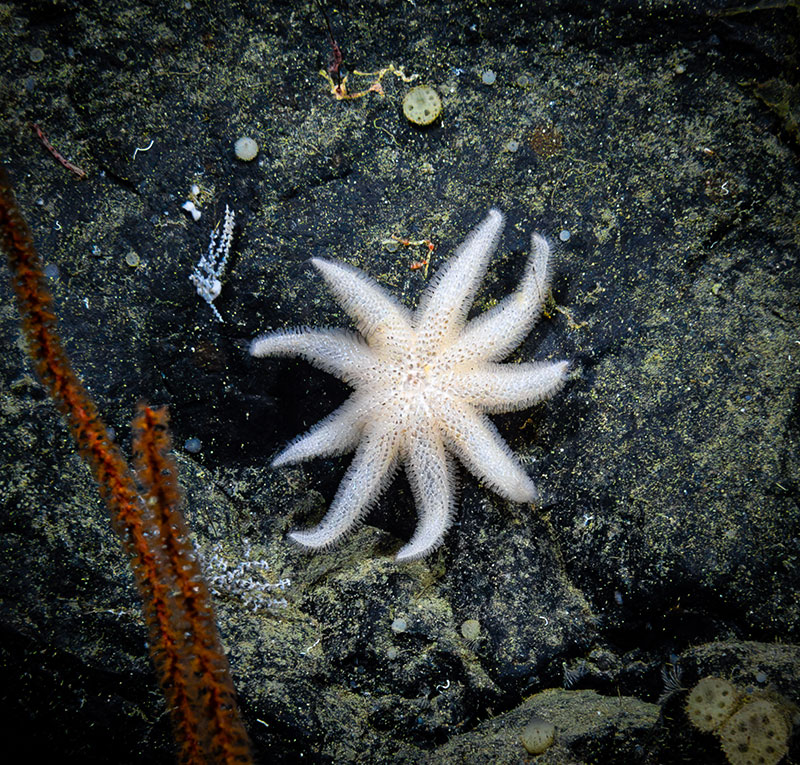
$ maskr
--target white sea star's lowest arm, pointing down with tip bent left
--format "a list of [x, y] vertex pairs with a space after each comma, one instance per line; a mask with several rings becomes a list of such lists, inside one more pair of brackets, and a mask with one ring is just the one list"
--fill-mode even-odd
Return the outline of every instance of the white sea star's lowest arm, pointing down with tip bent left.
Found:
[[419, 523], [396, 561], [405, 563], [438, 547], [455, 513], [455, 470], [439, 435], [432, 429], [414, 438], [405, 455], [406, 474]]

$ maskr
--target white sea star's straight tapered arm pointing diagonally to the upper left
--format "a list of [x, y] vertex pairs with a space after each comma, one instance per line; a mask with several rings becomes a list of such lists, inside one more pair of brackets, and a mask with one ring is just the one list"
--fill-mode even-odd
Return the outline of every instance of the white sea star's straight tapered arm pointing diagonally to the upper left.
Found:
[[413, 333], [405, 306], [358, 268], [324, 258], [311, 262], [371, 347], [390, 354], [408, 348]]

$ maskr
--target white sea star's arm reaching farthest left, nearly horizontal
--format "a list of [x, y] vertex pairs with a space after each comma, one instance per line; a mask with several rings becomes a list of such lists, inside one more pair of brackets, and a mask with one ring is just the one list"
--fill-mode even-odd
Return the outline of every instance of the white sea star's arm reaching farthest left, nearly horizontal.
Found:
[[354, 332], [343, 329], [285, 329], [257, 337], [252, 356], [302, 356], [347, 383], [360, 382], [375, 365], [369, 346]]

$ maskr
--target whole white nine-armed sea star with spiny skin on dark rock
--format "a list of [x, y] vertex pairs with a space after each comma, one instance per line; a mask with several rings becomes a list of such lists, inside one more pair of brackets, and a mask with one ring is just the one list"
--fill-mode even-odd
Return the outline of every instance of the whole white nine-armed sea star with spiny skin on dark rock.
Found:
[[441, 544], [455, 512], [451, 453], [506, 499], [537, 498], [533, 481], [486, 415], [549, 398], [563, 385], [569, 363], [497, 363], [528, 334], [547, 295], [550, 248], [538, 234], [519, 289], [467, 322], [503, 223], [502, 213], [490, 210], [439, 268], [414, 312], [363, 271], [314, 258], [358, 333], [304, 327], [252, 342], [253, 356], [302, 356], [355, 388], [272, 462], [279, 467], [356, 450], [322, 522], [292, 532], [293, 541], [317, 549], [340, 540], [402, 463], [419, 520], [397, 560], [426, 555]]

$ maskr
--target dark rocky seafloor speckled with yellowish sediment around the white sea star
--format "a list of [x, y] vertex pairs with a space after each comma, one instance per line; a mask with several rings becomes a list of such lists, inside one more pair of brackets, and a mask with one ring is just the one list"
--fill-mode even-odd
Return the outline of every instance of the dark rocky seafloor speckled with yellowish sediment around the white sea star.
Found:
[[[124, 448], [137, 401], [170, 407], [196, 544], [214, 581], [233, 572], [216, 606], [257, 759], [726, 762], [684, 713], [699, 678], [800, 702], [797, 3], [326, 12], [351, 92], [394, 64], [441, 119], [411, 125], [392, 72], [385, 95], [336, 100], [314, 3], [0, 4], [0, 161]], [[240, 136], [256, 160], [235, 158]], [[220, 323], [188, 275], [226, 204]], [[431, 240], [432, 274], [491, 205], [508, 225], [476, 311], [514, 289], [533, 231], [557, 244], [547, 316], [510, 360], [573, 372], [494, 418], [541, 506], [462, 470], [444, 544], [397, 566], [416, 523], [400, 476], [345, 544], [303, 553], [286, 533], [321, 518], [348, 458], [269, 462], [347, 389], [249, 341], [350, 326], [312, 256], [415, 305], [427, 250], [386, 242]], [[9, 751], [171, 762], [127, 564], [7, 279], [0, 331]], [[535, 759], [534, 715], [556, 728]]]

